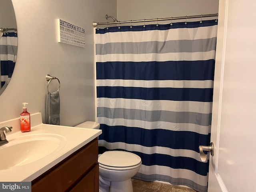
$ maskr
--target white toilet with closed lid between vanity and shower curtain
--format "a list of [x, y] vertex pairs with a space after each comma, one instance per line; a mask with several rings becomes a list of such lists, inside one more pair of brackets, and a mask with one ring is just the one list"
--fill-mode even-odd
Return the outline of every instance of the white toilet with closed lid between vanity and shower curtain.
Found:
[[[80, 128], [99, 129], [97, 122], [86, 121]], [[132, 177], [140, 170], [141, 158], [126, 151], [106, 151], [98, 157], [100, 192], [133, 192]]]

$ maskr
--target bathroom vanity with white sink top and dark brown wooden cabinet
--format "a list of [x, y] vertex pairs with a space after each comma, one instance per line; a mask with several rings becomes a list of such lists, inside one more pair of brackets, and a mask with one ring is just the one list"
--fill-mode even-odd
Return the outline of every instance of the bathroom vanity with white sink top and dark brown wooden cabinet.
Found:
[[1, 181], [32, 182], [32, 192], [99, 191], [101, 130], [42, 124], [41, 113], [31, 115], [30, 132], [20, 132], [19, 123], [0, 122], [13, 127], [0, 146]]

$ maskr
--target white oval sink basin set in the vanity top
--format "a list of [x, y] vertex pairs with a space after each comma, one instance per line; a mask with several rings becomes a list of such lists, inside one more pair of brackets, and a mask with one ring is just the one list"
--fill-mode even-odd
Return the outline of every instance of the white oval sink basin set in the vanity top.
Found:
[[8, 141], [0, 146], [0, 170], [42, 160], [58, 152], [66, 143], [66, 139], [57, 134], [32, 134]]

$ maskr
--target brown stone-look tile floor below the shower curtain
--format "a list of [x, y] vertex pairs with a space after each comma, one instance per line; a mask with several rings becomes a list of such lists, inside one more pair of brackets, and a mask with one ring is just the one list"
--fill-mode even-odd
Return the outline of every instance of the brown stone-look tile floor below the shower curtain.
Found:
[[196, 192], [190, 188], [132, 179], [133, 192]]

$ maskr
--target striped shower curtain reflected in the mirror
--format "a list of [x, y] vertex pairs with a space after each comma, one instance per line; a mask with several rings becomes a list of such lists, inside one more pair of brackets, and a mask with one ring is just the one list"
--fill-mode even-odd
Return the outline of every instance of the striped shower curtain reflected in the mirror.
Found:
[[18, 36], [15, 32], [4, 32], [0, 37], [1, 87], [9, 83], [17, 57]]

